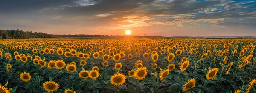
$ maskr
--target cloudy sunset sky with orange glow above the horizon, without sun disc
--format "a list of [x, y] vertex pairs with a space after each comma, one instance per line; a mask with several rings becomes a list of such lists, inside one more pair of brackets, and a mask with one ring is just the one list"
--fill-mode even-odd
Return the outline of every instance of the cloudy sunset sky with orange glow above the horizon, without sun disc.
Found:
[[0, 29], [50, 34], [256, 36], [256, 0], [2, 0]]

